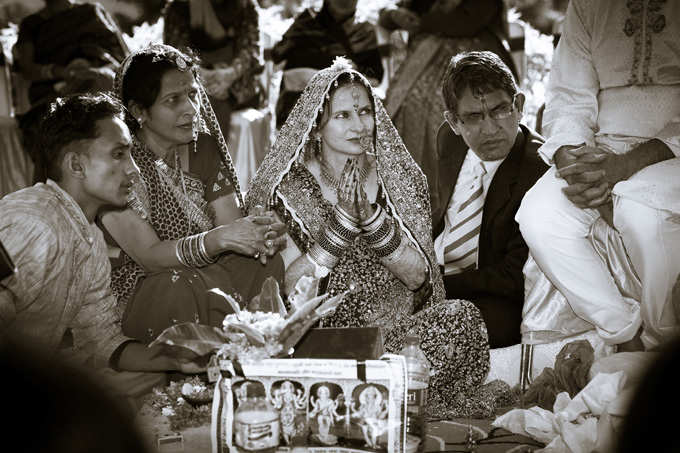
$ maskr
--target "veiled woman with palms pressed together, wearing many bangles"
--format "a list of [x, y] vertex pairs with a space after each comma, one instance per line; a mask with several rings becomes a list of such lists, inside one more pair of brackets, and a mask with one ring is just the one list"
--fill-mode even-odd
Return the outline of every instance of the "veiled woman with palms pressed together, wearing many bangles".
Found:
[[432, 405], [464, 410], [489, 367], [486, 327], [444, 300], [422, 171], [368, 80], [339, 58], [308, 83], [248, 191], [286, 223], [286, 291], [302, 275], [348, 292], [324, 327], [380, 327], [389, 352], [417, 330], [434, 371]]

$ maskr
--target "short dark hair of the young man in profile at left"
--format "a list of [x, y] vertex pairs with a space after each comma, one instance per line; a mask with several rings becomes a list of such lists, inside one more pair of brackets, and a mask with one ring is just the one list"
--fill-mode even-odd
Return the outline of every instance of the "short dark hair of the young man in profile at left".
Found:
[[109, 93], [81, 93], [57, 99], [36, 131], [36, 146], [45, 156], [48, 178], [60, 181], [61, 161], [68, 151], [81, 153], [99, 137], [97, 121], [124, 118], [123, 105]]

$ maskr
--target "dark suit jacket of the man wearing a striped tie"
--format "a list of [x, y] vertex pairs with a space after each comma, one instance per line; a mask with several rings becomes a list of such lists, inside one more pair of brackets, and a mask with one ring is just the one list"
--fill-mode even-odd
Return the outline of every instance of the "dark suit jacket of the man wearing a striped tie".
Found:
[[[538, 155], [543, 137], [520, 124], [515, 145], [491, 180], [484, 202], [479, 233], [479, 269], [444, 276], [447, 299], [494, 297], [522, 304], [522, 268], [529, 253], [515, 222], [524, 194], [546, 172], [548, 166]], [[437, 134], [438, 206], [432, 207], [432, 237], [444, 230], [446, 208], [458, 180], [468, 146], [444, 122]]]

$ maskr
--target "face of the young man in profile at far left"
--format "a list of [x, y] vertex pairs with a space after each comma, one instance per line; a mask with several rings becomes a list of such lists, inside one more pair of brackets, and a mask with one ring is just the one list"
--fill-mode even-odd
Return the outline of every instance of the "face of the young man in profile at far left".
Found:
[[80, 154], [82, 193], [89, 205], [124, 206], [139, 173], [130, 156], [130, 132], [118, 118], [97, 121], [99, 137]]

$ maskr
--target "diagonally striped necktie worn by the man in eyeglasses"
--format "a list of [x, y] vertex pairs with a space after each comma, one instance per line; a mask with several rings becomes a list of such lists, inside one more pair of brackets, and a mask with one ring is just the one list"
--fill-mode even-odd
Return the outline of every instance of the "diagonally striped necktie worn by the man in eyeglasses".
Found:
[[470, 196], [461, 203], [458, 213], [451, 219], [453, 221], [444, 246], [444, 275], [459, 274], [474, 269], [477, 264], [477, 245], [484, 211], [482, 183], [486, 169], [483, 162], [475, 166], [474, 173]]

